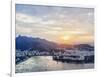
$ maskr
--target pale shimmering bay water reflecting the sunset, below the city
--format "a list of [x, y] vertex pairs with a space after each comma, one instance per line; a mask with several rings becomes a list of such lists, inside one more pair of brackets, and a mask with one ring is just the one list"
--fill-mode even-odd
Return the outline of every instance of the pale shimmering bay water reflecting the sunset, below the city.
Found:
[[57, 62], [51, 56], [34, 56], [16, 65], [16, 73], [87, 69], [93, 68], [94, 64], [70, 64]]

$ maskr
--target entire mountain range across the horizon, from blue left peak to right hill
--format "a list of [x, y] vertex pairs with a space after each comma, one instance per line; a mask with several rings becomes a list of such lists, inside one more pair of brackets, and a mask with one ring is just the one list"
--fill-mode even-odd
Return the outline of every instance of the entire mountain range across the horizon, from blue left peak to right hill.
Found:
[[94, 47], [89, 44], [78, 44], [78, 45], [67, 45], [67, 44], [57, 44], [41, 38], [33, 38], [27, 36], [19, 35], [16, 37], [16, 50], [48, 50], [55, 48], [66, 48], [78, 50], [94, 51]]

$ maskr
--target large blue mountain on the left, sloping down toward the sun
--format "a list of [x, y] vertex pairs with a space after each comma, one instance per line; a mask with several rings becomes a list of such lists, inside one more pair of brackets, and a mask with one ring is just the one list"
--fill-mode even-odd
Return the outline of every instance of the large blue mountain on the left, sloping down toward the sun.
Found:
[[33, 38], [27, 36], [16, 37], [16, 49], [17, 50], [45, 50], [56, 48], [57, 44], [45, 39]]

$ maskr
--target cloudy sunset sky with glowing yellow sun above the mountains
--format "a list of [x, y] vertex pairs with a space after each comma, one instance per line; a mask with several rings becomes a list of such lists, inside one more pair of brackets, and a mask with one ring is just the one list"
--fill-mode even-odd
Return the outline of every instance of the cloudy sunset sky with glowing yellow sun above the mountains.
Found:
[[94, 9], [16, 4], [16, 36], [38, 37], [59, 44], [92, 44]]

